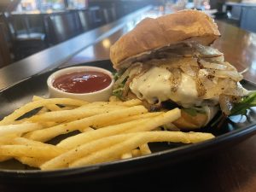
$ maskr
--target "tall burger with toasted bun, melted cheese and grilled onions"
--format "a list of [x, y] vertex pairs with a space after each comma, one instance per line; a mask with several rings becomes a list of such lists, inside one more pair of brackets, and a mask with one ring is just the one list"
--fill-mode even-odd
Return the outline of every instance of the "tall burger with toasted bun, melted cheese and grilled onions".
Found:
[[198, 129], [221, 110], [230, 115], [250, 93], [242, 74], [210, 45], [220, 36], [212, 18], [183, 10], [146, 18], [110, 48], [117, 70], [113, 95], [138, 98], [149, 111], [181, 108], [172, 125]]

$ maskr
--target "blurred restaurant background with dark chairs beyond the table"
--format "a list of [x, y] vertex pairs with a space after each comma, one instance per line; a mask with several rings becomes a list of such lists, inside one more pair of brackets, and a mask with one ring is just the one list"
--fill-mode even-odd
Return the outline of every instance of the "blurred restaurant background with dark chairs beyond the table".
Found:
[[256, 32], [256, 0], [0, 0], [1, 49], [11, 63], [106, 25], [144, 6], [169, 14], [200, 9]]

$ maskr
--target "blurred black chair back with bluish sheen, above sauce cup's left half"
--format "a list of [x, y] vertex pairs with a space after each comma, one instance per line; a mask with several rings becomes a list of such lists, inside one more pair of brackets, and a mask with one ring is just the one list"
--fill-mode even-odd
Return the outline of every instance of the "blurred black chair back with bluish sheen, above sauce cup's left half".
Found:
[[47, 23], [49, 44], [59, 44], [81, 33], [79, 15], [75, 12], [49, 15]]

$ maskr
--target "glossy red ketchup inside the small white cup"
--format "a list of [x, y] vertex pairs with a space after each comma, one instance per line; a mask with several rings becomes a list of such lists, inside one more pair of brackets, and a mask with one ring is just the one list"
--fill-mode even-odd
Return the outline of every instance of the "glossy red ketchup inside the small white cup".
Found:
[[103, 90], [111, 84], [108, 74], [101, 72], [76, 72], [63, 75], [54, 80], [53, 86], [69, 93], [91, 93]]

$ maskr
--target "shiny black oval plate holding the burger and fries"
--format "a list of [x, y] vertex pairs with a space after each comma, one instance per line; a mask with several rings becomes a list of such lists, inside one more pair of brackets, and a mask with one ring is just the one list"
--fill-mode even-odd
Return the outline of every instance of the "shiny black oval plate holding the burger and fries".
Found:
[[[103, 67], [113, 71], [110, 61], [93, 61], [79, 66]], [[57, 69], [40, 73], [0, 91], [0, 119], [12, 113], [16, 108], [32, 100], [32, 96], [47, 96], [46, 79]], [[256, 84], [246, 80], [241, 84], [248, 90], [256, 90]], [[256, 108], [248, 110], [247, 117], [236, 116], [227, 119], [221, 128], [206, 127], [203, 131], [212, 132], [216, 137], [212, 140], [196, 144], [151, 145], [154, 153], [130, 160], [119, 160], [110, 163], [61, 169], [43, 172], [21, 165], [15, 160], [0, 163], [0, 183], [79, 183], [136, 173], [144, 170], [171, 166], [192, 158], [211, 154], [235, 143], [239, 143], [256, 133]]]

